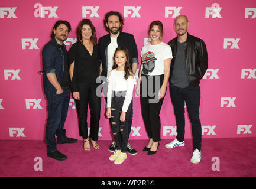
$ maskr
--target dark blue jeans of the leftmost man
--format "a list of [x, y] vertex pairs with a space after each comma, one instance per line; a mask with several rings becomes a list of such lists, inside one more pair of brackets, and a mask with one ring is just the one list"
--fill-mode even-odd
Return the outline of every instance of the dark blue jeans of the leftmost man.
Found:
[[63, 129], [63, 127], [67, 118], [67, 111], [69, 110], [70, 90], [67, 87], [63, 87], [62, 89], [63, 93], [61, 94], [46, 94], [48, 101], [48, 119], [46, 123], [46, 143], [48, 153], [57, 150], [55, 136], [57, 136], [57, 141], [66, 139], [66, 130]]

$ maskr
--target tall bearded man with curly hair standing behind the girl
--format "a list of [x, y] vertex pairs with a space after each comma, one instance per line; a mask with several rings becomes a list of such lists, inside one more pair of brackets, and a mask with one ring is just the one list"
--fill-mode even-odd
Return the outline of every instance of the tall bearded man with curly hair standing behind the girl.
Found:
[[[109, 71], [112, 70], [113, 66], [113, 56], [117, 47], [126, 47], [129, 51], [129, 56], [131, 60], [131, 68], [133, 74], [136, 73], [138, 67], [138, 50], [137, 45], [132, 34], [122, 32], [124, 25], [124, 18], [120, 12], [110, 11], [105, 14], [105, 19], [103, 21], [105, 30], [108, 32], [107, 35], [99, 38], [99, 58], [102, 62], [102, 73], [101, 76], [108, 78]], [[131, 102], [132, 105], [132, 102]], [[132, 114], [128, 120], [128, 133], [131, 132], [132, 125]], [[116, 142], [113, 141], [111, 146], [109, 146], [109, 151], [114, 152], [116, 150]], [[127, 145], [127, 152], [129, 154], [135, 155], [137, 151], [132, 148], [129, 144]]]

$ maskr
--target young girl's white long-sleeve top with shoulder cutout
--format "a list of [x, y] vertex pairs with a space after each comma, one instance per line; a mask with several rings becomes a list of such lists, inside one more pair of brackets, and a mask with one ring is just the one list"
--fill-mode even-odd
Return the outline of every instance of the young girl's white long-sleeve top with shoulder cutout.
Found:
[[132, 100], [132, 93], [134, 90], [134, 84], [136, 84], [135, 77], [128, 77], [126, 80], [124, 77], [125, 71], [112, 70], [108, 77], [108, 93], [107, 93], [107, 106], [111, 107], [112, 92], [127, 91], [125, 94], [124, 104], [122, 111], [127, 112], [129, 104]]

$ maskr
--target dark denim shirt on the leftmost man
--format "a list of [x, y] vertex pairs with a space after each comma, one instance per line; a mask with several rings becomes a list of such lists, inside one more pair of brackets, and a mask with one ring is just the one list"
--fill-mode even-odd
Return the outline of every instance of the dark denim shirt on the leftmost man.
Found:
[[46, 76], [47, 73], [55, 73], [57, 80], [60, 83], [64, 71], [64, 54], [55, 38], [52, 38], [51, 41], [44, 46], [42, 57], [44, 93], [56, 94], [55, 87], [50, 83]]

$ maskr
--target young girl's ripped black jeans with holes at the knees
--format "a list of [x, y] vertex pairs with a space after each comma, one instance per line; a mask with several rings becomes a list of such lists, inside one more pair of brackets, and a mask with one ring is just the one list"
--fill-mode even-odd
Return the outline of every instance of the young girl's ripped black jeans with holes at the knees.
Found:
[[[113, 94], [114, 93], [114, 94]], [[122, 106], [125, 100], [126, 91], [113, 92], [111, 99], [111, 128], [114, 140], [118, 150], [125, 153], [127, 151], [128, 142], [128, 119], [131, 113], [131, 103], [125, 113], [125, 122], [121, 122], [120, 116], [122, 112]]]

